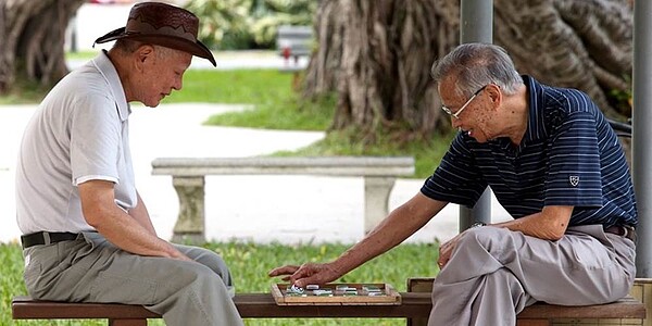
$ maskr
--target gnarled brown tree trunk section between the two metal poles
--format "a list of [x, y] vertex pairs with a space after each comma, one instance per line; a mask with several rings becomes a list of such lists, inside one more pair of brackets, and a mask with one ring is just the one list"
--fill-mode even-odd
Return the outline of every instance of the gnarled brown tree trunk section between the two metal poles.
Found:
[[496, 43], [519, 72], [578, 88], [610, 117], [630, 116], [611, 91], [629, 92], [632, 8], [629, 0], [494, 0]]

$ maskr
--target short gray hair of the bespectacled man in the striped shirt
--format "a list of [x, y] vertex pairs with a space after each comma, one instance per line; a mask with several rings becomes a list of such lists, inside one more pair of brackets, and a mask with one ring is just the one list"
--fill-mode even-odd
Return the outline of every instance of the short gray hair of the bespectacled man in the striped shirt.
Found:
[[507, 52], [494, 45], [464, 43], [432, 64], [430, 71], [436, 83], [456, 76], [455, 91], [469, 97], [488, 84], [498, 85], [506, 95], [514, 95], [523, 78], [514, 67]]

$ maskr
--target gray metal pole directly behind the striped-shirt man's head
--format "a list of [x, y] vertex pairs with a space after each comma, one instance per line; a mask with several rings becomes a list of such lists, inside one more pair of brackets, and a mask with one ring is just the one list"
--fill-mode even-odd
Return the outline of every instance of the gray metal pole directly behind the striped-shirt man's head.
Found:
[[[462, 0], [460, 7], [460, 43], [492, 43], [493, 0]], [[485, 190], [473, 209], [460, 206], [460, 231], [468, 228], [474, 222], [491, 222], [491, 190], [489, 188]]]

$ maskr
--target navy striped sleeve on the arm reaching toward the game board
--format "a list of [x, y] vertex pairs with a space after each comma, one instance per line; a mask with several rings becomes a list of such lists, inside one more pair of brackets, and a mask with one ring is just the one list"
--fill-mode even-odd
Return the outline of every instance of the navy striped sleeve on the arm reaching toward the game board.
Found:
[[455, 136], [441, 163], [426, 179], [421, 191], [435, 200], [472, 208], [487, 188], [487, 183], [463, 137], [461, 133]]

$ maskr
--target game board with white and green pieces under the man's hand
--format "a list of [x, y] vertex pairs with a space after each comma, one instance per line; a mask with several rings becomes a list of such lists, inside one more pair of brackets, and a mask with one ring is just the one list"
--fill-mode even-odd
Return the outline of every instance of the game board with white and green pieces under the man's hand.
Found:
[[274, 284], [272, 296], [278, 305], [401, 304], [401, 294], [389, 284], [326, 284], [305, 289]]

